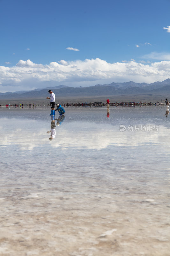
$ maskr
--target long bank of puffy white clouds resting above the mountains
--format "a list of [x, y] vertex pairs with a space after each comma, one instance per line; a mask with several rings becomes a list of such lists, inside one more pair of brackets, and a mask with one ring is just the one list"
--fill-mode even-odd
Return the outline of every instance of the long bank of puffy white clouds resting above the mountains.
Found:
[[[154, 54], [152, 54], [152, 58]], [[157, 57], [158, 58], [158, 57]], [[169, 56], [170, 60], [170, 56]], [[0, 92], [32, 90], [55, 85], [90, 86], [112, 82], [152, 83], [170, 77], [170, 61], [108, 63], [99, 58], [51, 62], [49, 65], [19, 60], [16, 66], [0, 66]]]

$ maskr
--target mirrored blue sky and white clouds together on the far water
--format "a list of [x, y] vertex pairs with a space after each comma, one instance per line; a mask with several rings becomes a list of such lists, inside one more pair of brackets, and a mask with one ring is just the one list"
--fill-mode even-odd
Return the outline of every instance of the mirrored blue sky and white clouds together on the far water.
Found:
[[[165, 107], [162, 109], [114, 107], [110, 108], [111, 114], [106, 108], [70, 107], [65, 123], [63, 123], [65, 116], [57, 115], [54, 120], [52, 116], [51, 119], [48, 116], [48, 108], [35, 110], [0, 109], [0, 144], [2, 146], [14, 145], [22, 151], [33, 150], [38, 146], [46, 148], [48, 140], [54, 140], [56, 137], [55, 126], [59, 126], [60, 136], [54, 140], [52, 147], [69, 148], [74, 145], [75, 148], [88, 150], [104, 150], [115, 146], [137, 147], [151, 144], [159, 146], [167, 143], [167, 136], [170, 133], [169, 122], [166, 122], [168, 119], [165, 118], [165, 114], [167, 116], [169, 111]], [[110, 114], [109, 118], [106, 114]], [[60, 127], [61, 124], [62, 127]], [[126, 127], [126, 131], [120, 131], [121, 125]], [[144, 130], [143, 127], [146, 129]], [[21, 138], [20, 134], [23, 131], [25, 136]], [[116, 148], [116, 152], [118, 151]]]

